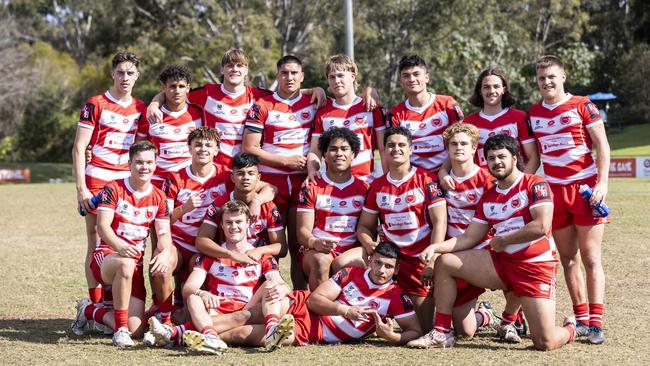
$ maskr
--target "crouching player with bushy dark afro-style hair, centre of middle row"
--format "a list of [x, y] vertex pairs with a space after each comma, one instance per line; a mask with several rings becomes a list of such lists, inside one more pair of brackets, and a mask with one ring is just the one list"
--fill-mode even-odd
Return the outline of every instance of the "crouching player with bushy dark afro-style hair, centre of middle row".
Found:
[[349, 128], [328, 129], [318, 140], [325, 174], [300, 191], [298, 242], [311, 290], [327, 281], [330, 272], [364, 264], [355, 232], [369, 184], [355, 177], [351, 167], [360, 145]]

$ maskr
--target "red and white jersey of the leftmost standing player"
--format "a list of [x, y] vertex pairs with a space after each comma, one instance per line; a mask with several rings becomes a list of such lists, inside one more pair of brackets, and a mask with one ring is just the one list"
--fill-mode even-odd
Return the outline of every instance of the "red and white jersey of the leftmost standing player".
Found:
[[88, 99], [77, 126], [93, 131], [89, 166], [100, 169], [96, 172], [87, 169], [90, 176], [101, 179], [101, 169], [129, 170], [129, 147], [135, 142], [138, 125], [143, 123], [145, 114], [146, 106], [139, 99], [132, 98], [130, 103], [122, 103], [108, 91]]

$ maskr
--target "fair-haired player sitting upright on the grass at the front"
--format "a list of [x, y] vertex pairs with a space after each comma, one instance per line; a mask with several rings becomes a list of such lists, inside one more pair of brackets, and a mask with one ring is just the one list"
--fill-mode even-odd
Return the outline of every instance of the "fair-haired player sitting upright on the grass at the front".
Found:
[[[242, 254], [252, 249], [247, 237], [248, 223], [248, 206], [241, 201], [227, 202], [222, 208], [221, 225], [225, 237], [222, 247]], [[259, 304], [263, 292], [258, 289], [262, 283], [265, 289], [282, 291], [282, 296], [288, 291], [280, 276], [278, 263], [270, 255], [264, 255], [251, 264], [230, 258], [197, 257], [194, 270], [183, 286], [183, 297], [192, 320], [172, 327], [161, 324], [155, 317], [149, 318], [150, 331], [156, 338], [156, 344], [180, 343], [182, 336], [190, 350], [216, 354], [225, 352], [228, 346], [219, 338], [211, 311], [228, 314]], [[208, 291], [201, 289], [204, 284]]]

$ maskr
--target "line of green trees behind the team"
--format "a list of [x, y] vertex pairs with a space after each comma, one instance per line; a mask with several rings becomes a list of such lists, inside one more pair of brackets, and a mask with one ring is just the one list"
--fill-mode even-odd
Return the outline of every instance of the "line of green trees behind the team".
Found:
[[[242, 48], [251, 83], [270, 87], [275, 61], [301, 57], [305, 85], [326, 88], [324, 64], [344, 51], [343, 2], [326, 0], [0, 1], [0, 161], [70, 161], [79, 109], [111, 83], [109, 61], [128, 48], [142, 60], [134, 96], [157, 93], [158, 72], [181, 63], [193, 85], [219, 80], [221, 55]], [[611, 91], [610, 120], [650, 121], [650, 3], [643, 0], [354, 1], [361, 84], [390, 106], [404, 98], [397, 64], [417, 53], [429, 86], [467, 113], [479, 72], [499, 67], [517, 107], [539, 99], [534, 62], [567, 63], [567, 90]]]

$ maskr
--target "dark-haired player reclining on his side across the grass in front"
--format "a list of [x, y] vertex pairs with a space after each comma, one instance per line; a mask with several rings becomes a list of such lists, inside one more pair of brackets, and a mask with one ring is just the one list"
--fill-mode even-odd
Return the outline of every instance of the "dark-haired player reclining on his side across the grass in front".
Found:
[[[263, 345], [269, 351], [282, 345], [348, 342], [373, 332], [392, 344], [406, 344], [422, 330], [410, 297], [393, 280], [399, 256], [397, 246], [381, 242], [367, 268], [344, 268], [311, 294], [293, 291], [278, 301], [277, 290], [266, 290], [261, 307], [218, 319], [221, 324], [239, 322], [221, 337], [228, 344]], [[394, 331], [390, 318], [401, 333]]]

